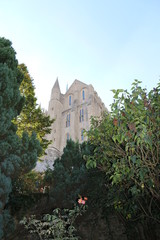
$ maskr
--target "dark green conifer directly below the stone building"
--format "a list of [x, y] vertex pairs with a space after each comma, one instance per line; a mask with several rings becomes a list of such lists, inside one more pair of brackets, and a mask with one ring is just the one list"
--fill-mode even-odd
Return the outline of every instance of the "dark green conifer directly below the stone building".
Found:
[[86, 167], [82, 149], [78, 142], [68, 140], [61, 158], [54, 162], [54, 169], [46, 172], [45, 179], [51, 185], [50, 196], [58, 207], [70, 208], [78, 195], [85, 194]]

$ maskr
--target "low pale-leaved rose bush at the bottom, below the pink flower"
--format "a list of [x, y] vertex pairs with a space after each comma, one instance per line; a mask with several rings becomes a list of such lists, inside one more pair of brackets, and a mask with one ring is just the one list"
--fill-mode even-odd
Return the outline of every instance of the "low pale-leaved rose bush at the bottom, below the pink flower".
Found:
[[39, 236], [40, 240], [55, 239], [55, 240], [78, 240], [79, 237], [75, 236], [76, 229], [74, 227], [75, 219], [82, 215], [86, 210], [86, 206], [75, 206], [74, 209], [59, 209], [56, 208], [53, 214], [45, 214], [42, 219], [36, 219], [35, 215], [24, 218], [21, 224], [31, 234]]

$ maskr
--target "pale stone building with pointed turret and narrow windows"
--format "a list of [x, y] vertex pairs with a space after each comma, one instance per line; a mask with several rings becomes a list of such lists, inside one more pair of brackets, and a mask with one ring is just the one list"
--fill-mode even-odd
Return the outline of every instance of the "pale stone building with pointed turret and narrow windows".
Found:
[[61, 156], [67, 139], [83, 142], [85, 140], [83, 131], [89, 130], [91, 116], [100, 116], [106, 110], [92, 85], [75, 80], [67, 92], [62, 94], [57, 79], [52, 88], [48, 107], [48, 114], [55, 121], [47, 139], [53, 143], [47, 150], [43, 166], [44, 164], [51, 166], [53, 161]]

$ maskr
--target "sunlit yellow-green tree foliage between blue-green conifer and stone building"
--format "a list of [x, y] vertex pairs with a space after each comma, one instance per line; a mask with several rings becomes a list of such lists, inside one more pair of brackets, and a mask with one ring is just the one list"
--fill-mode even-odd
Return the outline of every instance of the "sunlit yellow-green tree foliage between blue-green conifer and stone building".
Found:
[[[14, 118], [13, 123], [17, 126], [17, 135], [21, 138], [25, 131], [29, 136], [34, 132], [36, 139], [41, 146], [41, 152], [38, 153], [38, 158], [45, 154], [45, 150], [51, 141], [45, 138], [46, 134], [51, 132], [51, 124], [54, 120], [47, 116], [43, 109], [37, 104], [37, 98], [35, 97], [35, 87], [33, 79], [29, 75], [27, 67], [24, 64], [18, 65], [18, 70], [23, 76], [19, 90], [21, 96], [24, 97], [23, 108], [18, 116]], [[36, 179], [37, 178], [37, 179]], [[14, 179], [13, 191], [10, 197], [10, 201], [14, 199], [16, 202], [16, 196], [18, 193], [29, 193], [37, 191], [35, 182], [39, 182], [38, 187], [41, 184], [41, 174], [35, 172], [23, 171]], [[22, 199], [23, 201], [23, 199]]]

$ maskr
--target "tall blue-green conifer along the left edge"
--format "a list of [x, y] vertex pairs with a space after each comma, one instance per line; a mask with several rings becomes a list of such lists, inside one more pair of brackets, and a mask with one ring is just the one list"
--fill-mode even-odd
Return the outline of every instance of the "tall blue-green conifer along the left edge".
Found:
[[12, 228], [11, 216], [5, 209], [12, 191], [12, 180], [20, 172], [35, 167], [41, 152], [33, 133], [20, 138], [12, 120], [20, 114], [24, 98], [19, 87], [23, 79], [18, 69], [16, 53], [9, 40], [0, 38], [0, 238], [7, 237]]

